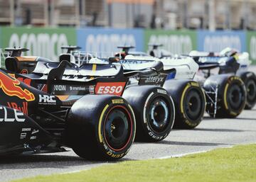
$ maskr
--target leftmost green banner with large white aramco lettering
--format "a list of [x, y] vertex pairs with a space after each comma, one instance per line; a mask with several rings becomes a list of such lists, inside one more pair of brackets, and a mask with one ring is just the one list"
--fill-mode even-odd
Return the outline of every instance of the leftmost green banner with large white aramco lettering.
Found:
[[75, 45], [75, 28], [1, 28], [1, 48], [26, 47], [23, 55], [35, 55], [57, 60], [62, 45]]

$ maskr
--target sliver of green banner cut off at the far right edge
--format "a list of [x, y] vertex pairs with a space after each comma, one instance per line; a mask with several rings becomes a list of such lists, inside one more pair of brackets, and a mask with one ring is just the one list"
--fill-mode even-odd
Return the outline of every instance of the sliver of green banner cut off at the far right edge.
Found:
[[256, 64], [256, 31], [246, 32], [246, 43], [252, 64]]

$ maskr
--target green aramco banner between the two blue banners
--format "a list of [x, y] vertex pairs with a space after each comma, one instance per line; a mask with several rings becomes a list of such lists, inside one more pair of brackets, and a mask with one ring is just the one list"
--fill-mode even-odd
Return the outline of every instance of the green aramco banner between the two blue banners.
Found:
[[149, 43], [159, 43], [164, 50], [174, 54], [188, 54], [196, 50], [197, 33], [194, 30], [145, 30], [144, 48], [148, 50]]

